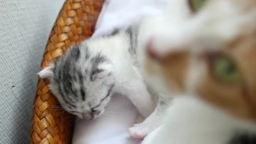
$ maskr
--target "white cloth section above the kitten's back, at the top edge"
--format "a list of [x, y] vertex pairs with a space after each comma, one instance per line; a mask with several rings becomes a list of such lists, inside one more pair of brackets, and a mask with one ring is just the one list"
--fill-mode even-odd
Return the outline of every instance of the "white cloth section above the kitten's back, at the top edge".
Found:
[[141, 19], [163, 13], [168, 0], [105, 0], [93, 37], [125, 29]]

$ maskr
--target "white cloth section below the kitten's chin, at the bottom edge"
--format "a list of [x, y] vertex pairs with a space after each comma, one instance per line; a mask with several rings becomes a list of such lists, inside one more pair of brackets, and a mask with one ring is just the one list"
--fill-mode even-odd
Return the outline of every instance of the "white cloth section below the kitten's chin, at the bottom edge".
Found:
[[139, 144], [141, 140], [131, 138], [127, 132], [137, 115], [131, 101], [114, 95], [101, 117], [75, 123], [72, 144]]

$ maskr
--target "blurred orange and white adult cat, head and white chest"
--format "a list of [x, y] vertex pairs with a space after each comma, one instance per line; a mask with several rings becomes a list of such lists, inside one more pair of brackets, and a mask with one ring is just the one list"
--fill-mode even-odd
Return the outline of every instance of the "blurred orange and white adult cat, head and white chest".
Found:
[[256, 143], [255, 24], [255, 0], [170, 0], [145, 22], [144, 74], [184, 97], [142, 144]]

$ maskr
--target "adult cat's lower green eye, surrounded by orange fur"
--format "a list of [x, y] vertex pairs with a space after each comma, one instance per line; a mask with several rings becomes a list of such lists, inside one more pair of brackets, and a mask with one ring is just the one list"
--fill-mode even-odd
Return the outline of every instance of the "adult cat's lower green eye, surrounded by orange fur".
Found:
[[216, 56], [212, 61], [213, 74], [223, 83], [237, 84], [242, 80], [242, 75], [235, 62], [226, 56]]

